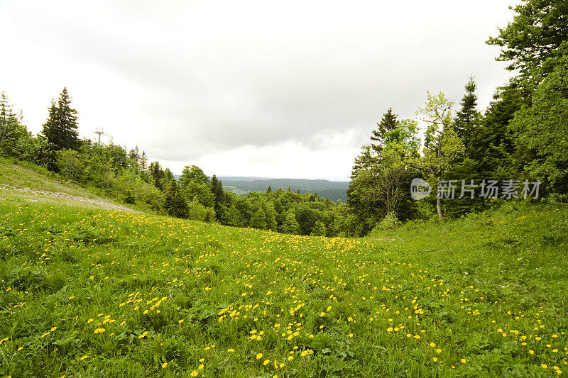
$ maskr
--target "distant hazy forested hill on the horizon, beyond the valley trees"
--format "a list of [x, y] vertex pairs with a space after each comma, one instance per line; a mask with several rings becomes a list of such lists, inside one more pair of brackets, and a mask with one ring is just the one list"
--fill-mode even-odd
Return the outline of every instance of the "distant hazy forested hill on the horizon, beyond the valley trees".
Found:
[[347, 201], [345, 191], [349, 187], [349, 182], [335, 182], [328, 180], [310, 180], [310, 179], [266, 179], [258, 177], [219, 177], [223, 183], [223, 189], [232, 191], [236, 194], [248, 194], [251, 191], [266, 191], [268, 186], [273, 191], [282, 189], [297, 191], [300, 194], [317, 193], [318, 196], [337, 201], [341, 199]]

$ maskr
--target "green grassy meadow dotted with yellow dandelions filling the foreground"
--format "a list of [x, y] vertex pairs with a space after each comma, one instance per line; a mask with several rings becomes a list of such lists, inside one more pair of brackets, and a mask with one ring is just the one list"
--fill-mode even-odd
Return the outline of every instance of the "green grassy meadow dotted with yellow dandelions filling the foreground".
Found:
[[328, 239], [4, 200], [0, 376], [558, 375], [567, 235], [559, 205]]

